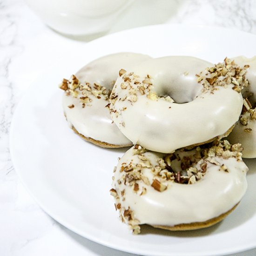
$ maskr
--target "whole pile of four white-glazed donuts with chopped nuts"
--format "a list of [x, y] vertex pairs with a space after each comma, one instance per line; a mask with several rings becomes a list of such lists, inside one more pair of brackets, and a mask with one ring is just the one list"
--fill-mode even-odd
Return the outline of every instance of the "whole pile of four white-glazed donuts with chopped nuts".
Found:
[[[191, 230], [241, 201], [256, 157], [256, 57], [216, 65], [195, 57], [118, 53], [60, 88], [67, 122], [86, 141], [128, 147], [114, 169], [115, 209], [141, 224]], [[242, 155], [243, 154], [243, 155]]]

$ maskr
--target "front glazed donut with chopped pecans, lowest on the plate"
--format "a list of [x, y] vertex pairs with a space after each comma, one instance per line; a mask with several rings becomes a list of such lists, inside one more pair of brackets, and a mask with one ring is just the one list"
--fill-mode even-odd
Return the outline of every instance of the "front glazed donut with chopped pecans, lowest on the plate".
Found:
[[176, 231], [220, 222], [247, 189], [242, 149], [213, 141], [162, 154], [135, 145], [114, 170], [115, 209], [135, 234], [141, 224]]

